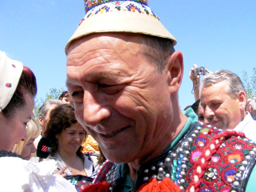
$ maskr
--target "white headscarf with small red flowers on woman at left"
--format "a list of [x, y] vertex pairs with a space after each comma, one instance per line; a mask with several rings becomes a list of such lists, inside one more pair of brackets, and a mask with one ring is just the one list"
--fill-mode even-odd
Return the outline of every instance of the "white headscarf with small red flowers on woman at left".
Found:
[[5, 52], [0, 51], [0, 112], [10, 102], [22, 71], [21, 62], [10, 59]]

